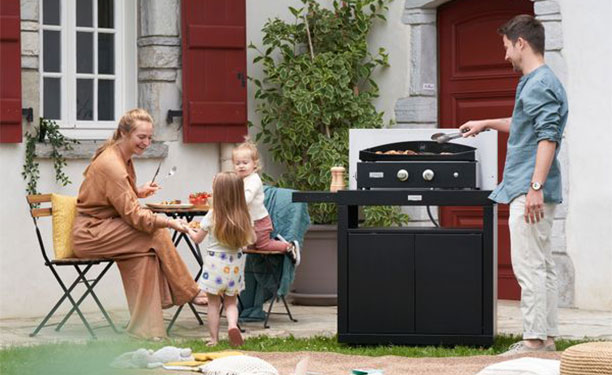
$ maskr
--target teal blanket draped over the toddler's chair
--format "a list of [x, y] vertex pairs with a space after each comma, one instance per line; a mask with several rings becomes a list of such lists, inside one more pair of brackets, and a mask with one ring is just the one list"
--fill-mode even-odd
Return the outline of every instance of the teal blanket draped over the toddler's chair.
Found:
[[[291, 201], [294, 190], [264, 186], [264, 205], [270, 213], [274, 232], [272, 237], [280, 234], [287, 241], [297, 240], [302, 247], [304, 234], [310, 225], [308, 205]], [[246, 289], [240, 294], [242, 302], [240, 320], [245, 322], [263, 321], [266, 314], [263, 304], [272, 298], [273, 286], [282, 275], [278, 295], [285, 296], [295, 277], [295, 266], [288, 256], [267, 256], [249, 254], [245, 265]], [[271, 262], [274, 273], [268, 272]]]

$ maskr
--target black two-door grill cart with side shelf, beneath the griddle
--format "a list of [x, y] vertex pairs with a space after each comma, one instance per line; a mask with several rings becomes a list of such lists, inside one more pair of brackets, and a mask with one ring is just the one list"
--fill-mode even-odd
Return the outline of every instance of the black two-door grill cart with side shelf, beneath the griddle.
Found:
[[[476, 189], [295, 192], [296, 202], [338, 206], [338, 341], [493, 344], [497, 206], [489, 194]], [[479, 206], [482, 224], [366, 228], [359, 225], [358, 208], [368, 205]]]

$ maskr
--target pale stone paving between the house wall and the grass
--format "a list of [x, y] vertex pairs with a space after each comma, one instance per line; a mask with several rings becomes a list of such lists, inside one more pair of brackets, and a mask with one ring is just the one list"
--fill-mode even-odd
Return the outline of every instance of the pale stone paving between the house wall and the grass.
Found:
[[[282, 312], [282, 305], [275, 305], [274, 310]], [[499, 301], [497, 314], [498, 333], [521, 332], [521, 315], [518, 302]], [[291, 311], [297, 323], [289, 321], [286, 315], [273, 315], [269, 329], [263, 328], [263, 323], [246, 323], [246, 337], [269, 335], [309, 337], [314, 335], [334, 335], [336, 333], [336, 307], [293, 306]], [[174, 310], [167, 310], [170, 318]], [[127, 311], [111, 312], [113, 320], [124, 326], [128, 319]], [[587, 311], [563, 308], [560, 310], [560, 333], [564, 338], [594, 338], [612, 340], [612, 312]], [[88, 320], [95, 325], [102, 325], [99, 314], [87, 314]], [[71, 317], [68, 324], [56, 332], [52, 327], [44, 328], [36, 337], [29, 337], [30, 332], [38, 324], [40, 318], [4, 319], [0, 320], [0, 346], [35, 345], [58, 341], [85, 341], [89, 335], [81, 325], [78, 317]], [[100, 338], [116, 337], [110, 328], [96, 330]], [[206, 326], [199, 326], [191, 311], [184, 310], [171, 335], [175, 338], [200, 338], [207, 335]], [[223, 338], [223, 336], [222, 336]]]

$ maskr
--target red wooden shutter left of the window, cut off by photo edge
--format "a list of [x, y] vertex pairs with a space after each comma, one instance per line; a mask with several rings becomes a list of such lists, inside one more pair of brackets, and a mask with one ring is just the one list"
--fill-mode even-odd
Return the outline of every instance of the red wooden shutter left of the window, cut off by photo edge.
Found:
[[19, 0], [0, 1], [0, 143], [21, 142]]

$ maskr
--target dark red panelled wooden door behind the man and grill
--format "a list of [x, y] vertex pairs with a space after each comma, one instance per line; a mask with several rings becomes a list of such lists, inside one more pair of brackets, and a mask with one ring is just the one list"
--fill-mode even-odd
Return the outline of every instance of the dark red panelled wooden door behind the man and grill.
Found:
[[[440, 124], [457, 127], [468, 120], [510, 117], [520, 75], [504, 61], [497, 28], [517, 14], [533, 15], [530, 0], [455, 0], [438, 8], [440, 61]], [[506, 159], [507, 134], [498, 140], [498, 178]], [[445, 207], [441, 224], [454, 227], [482, 225], [482, 210]], [[512, 272], [508, 205], [498, 207], [498, 298], [519, 299], [520, 287]]]

